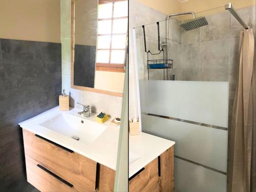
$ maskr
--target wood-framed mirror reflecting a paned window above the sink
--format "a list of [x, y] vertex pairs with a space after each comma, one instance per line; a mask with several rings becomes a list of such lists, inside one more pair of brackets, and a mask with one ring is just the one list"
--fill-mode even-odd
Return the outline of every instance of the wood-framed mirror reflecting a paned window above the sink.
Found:
[[122, 96], [128, 1], [77, 0], [71, 20], [72, 88]]

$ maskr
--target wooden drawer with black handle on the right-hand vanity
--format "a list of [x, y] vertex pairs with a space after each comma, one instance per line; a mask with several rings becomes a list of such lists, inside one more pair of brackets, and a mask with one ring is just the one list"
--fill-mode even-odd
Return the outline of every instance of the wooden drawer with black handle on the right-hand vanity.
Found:
[[129, 191], [159, 191], [158, 158], [148, 163], [138, 175], [130, 178]]

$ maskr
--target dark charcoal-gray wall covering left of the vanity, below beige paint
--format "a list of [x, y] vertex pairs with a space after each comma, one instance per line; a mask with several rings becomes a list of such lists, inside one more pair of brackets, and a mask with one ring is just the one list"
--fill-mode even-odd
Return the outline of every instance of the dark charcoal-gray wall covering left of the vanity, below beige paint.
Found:
[[61, 45], [0, 39], [0, 190], [37, 191], [26, 181], [18, 123], [58, 105]]

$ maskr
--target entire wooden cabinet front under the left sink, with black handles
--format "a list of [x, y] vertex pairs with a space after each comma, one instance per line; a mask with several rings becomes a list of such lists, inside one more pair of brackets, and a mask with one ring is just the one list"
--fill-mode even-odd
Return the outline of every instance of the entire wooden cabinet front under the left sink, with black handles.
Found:
[[114, 170], [29, 131], [23, 138], [27, 180], [40, 191], [114, 190]]

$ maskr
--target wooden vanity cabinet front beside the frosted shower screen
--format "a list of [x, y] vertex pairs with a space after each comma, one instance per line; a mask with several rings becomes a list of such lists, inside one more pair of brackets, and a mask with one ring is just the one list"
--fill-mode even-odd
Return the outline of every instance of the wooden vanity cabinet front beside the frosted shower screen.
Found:
[[129, 191], [174, 191], [174, 147], [168, 148], [129, 179]]

